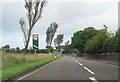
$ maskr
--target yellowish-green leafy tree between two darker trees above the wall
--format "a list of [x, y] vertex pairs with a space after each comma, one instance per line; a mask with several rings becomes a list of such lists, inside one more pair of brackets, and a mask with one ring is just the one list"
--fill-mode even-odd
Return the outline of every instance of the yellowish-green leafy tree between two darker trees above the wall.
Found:
[[85, 45], [85, 52], [87, 53], [101, 53], [104, 52], [102, 47], [104, 45], [104, 40], [108, 37], [108, 32], [106, 29], [100, 30], [96, 36], [90, 39]]

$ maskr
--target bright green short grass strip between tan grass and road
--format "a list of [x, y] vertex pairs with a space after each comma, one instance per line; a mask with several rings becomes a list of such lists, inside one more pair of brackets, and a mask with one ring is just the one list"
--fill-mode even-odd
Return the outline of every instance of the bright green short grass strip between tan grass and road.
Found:
[[[25, 72], [27, 70], [33, 69], [36, 66], [39, 66], [41, 64], [45, 64], [49, 61], [55, 60], [60, 58], [61, 56], [56, 56], [56, 58], [53, 56], [50, 56], [48, 58], [43, 58], [37, 61], [26, 61], [24, 63], [18, 63], [18, 64], [11, 64], [10, 66], [5, 66], [2, 69], [2, 80], [12, 77], [14, 75], [20, 74], [22, 72]], [[10, 63], [10, 62], [9, 62]]]

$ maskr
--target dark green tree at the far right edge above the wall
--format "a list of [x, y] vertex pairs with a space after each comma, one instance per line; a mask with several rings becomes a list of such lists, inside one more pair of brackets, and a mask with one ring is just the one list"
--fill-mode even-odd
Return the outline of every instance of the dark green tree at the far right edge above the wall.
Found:
[[114, 33], [110, 32], [108, 33], [108, 37], [104, 40], [104, 44], [102, 47], [102, 52], [108, 53], [108, 52], [120, 52], [120, 29]]

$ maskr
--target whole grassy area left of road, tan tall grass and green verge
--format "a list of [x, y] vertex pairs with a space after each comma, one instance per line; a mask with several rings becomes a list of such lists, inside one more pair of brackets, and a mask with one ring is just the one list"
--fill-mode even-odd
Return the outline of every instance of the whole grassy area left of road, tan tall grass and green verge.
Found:
[[60, 57], [55, 54], [38, 54], [36, 56], [33, 54], [5, 54], [2, 56], [2, 79], [12, 77]]

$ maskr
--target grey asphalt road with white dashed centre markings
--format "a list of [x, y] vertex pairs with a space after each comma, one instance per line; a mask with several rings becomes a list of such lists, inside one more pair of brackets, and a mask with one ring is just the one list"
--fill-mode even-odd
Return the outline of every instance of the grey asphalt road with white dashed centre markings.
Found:
[[118, 66], [64, 56], [37, 70], [28, 73], [18, 80], [118, 80]]

